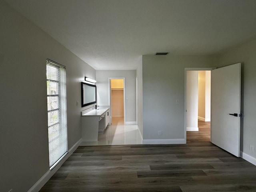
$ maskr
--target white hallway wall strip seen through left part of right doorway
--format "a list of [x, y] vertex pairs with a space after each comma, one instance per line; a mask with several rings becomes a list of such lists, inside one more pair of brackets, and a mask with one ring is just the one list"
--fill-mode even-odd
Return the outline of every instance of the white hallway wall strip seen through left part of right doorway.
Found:
[[198, 131], [198, 71], [187, 71], [186, 101], [186, 130]]

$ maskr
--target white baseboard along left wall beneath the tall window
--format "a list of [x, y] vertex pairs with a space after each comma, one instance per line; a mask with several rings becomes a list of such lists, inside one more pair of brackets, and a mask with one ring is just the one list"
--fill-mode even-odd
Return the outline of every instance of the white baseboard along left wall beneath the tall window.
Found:
[[48, 170], [46, 174], [44, 174], [35, 184], [28, 190], [28, 192], [38, 192], [44, 184], [56, 173], [56, 171], [62, 166], [62, 164], [70, 157], [70, 155], [78, 148], [80, 143], [82, 142], [82, 138], [78, 140], [71, 148], [68, 150], [68, 154], [50, 171]]

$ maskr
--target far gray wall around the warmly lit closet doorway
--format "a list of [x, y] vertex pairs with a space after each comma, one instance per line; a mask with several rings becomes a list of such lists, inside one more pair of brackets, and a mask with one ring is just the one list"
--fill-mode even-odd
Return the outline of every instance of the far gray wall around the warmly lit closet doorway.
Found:
[[136, 70], [96, 70], [97, 105], [108, 104], [108, 78], [124, 77], [126, 88], [126, 122], [136, 121]]

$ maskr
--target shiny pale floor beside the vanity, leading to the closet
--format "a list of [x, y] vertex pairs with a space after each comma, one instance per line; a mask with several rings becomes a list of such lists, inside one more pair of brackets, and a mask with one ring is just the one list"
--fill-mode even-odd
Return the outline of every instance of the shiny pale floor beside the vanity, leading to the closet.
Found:
[[124, 125], [124, 117], [113, 117], [112, 124], [99, 132], [98, 142], [82, 142], [80, 146], [142, 144], [137, 125]]

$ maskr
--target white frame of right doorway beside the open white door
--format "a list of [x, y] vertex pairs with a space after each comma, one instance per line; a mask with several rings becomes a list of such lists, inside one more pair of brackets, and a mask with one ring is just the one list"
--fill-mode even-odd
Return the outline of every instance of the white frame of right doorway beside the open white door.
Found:
[[184, 140], [187, 143], [187, 71], [211, 71], [216, 69], [216, 67], [199, 67], [199, 68], [184, 68], [184, 76], [185, 76], [185, 85], [184, 85]]

